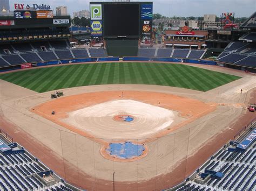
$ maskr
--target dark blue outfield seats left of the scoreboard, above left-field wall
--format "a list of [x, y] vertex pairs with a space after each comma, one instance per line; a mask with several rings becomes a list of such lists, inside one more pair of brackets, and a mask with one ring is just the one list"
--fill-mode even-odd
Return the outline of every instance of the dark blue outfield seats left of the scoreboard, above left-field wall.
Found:
[[[95, 57], [105, 57], [107, 53], [105, 49], [89, 49], [89, 54], [92, 58]], [[41, 51], [41, 52], [30, 52], [21, 54], [7, 54], [0, 57], [0, 67], [19, 65], [22, 63], [33, 63], [42, 61], [52, 61], [52, 60], [65, 60], [73, 59], [74, 57], [79, 58], [89, 58], [87, 49], [66, 49], [66, 50], [55, 50], [55, 51]], [[57, 57], [57, 56], [58, 57]], [[10, 65], [9, 65], [10, 63]]]

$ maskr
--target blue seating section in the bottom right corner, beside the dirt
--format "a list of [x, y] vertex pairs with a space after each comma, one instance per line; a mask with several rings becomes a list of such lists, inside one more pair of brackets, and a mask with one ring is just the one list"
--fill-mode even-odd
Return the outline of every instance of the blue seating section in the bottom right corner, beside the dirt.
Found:
[[[221, 179], [210, 176], [204, 183], [189, 180], [177, 190], [255, 190], [256, 189], [256, 144], [252, 144], [245, 152], [231, 152], [224, 148], [200, 170], [210, 169], [224, 173]], [[197, 175], [198, 178], [200, 175]]]

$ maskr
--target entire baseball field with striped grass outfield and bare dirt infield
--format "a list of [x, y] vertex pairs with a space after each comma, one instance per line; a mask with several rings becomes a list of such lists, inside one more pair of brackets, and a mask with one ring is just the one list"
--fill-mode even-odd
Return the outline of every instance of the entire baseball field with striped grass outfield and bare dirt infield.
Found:
[[[0, 74], [0, 128], [79, 188], [161, 190], [255, 117], [246, 109], [255, 87], [252, 73], [188, 63], [8, 71]], [[64, 96], [51, 99], [59, 89]]]

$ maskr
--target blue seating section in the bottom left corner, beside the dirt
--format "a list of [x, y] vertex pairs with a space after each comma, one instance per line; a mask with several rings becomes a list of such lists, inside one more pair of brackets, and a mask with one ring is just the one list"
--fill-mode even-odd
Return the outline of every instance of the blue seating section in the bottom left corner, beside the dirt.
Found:
[[[8, 145], [8, 142], [5, 144]], [[39, 172], [50, 173], [48, 175], [54, 181], [45, 185], [41, 180], [43, 175]], [[9, 151], [0, 152], [0, 190], [78, 190], [67, 186], [63, 179], [43, 166], [23, 147], [16, 145]]]

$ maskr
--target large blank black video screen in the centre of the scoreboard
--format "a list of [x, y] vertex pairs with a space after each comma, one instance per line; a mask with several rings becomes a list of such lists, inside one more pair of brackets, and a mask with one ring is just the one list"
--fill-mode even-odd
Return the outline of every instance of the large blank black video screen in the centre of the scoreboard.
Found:
[[104, 4], [104, 36], [139, 36], [139, 4]]

